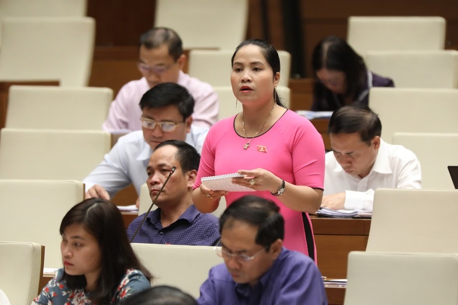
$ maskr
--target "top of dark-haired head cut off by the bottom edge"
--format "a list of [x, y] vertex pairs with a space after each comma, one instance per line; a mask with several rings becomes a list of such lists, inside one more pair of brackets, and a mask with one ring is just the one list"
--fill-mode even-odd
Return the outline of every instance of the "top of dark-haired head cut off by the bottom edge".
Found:
[[178, 288], [160, 285], [136, 293], [118, 305], [197, 305], [197, 302]]

